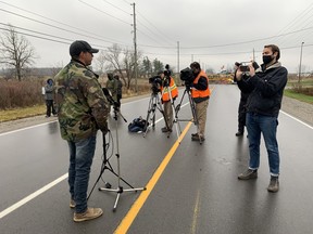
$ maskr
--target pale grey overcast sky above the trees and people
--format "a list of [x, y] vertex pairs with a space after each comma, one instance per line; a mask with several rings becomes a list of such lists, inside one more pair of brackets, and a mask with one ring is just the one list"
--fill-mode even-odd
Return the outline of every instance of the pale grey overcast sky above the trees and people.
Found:
[[[128, 0], [0, 0], [0, 28], [11, 24], [34, 46], [36, 67], [70, 61], [68, 47], [80, 39], [107, 50], [134, 49], [133, 5]], [[289, 73], [313, 70], [312, 0], [136, 0], [137, 46], [150, 60], [178, 67], [191, 61], [216, 73], [236, 61], [262, 62], [264, 44], [280, 48]], [[2, 35], [3, 29], [0, 30]], [[35, 37], [32, 37], [32, 36]], [[37, 38], [36, 38], [37, 37]], [[40, 39], [38, 37], [45, 38]], [[95, 56], [97, 57], [97, 55]]]

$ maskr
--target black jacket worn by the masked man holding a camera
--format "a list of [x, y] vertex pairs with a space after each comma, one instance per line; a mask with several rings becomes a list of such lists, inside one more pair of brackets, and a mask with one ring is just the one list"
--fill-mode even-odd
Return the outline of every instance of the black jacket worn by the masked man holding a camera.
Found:
[[277, 117], [281, 106], [284, 88], [288, 72], [280, 63], [275, 63], [253, 77], [241, 79], [238, 87], [242, 92], [249, 92], [247, 112]]

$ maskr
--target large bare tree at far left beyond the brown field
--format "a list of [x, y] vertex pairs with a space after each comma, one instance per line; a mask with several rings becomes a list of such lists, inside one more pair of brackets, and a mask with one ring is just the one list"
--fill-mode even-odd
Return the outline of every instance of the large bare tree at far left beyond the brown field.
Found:
[[15, 77], [21, 81], [23, 68], [34, 63], [34, 47], [24, 36], [18, 35], [13, 26], [9, 25], [0, 38], [0, 63], [14, 67]]

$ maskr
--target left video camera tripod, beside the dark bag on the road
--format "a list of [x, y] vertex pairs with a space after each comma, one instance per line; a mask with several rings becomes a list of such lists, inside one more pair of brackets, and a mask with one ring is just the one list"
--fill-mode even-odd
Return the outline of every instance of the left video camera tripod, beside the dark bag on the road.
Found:
[[148, 107], [148, 113], [147, 113], [147, 118], [146, 118], [146, 126], [145, 126], [145, 132], [143, 132], [143, 138], [147, 135], [148, 133], [148, 130], [149, 130], [149, 120], [152, 121], [151, 126], [152, 126], [152, 129], [154, 130], [155, 128], [155, 112], [156, 109], [160, 110], [160, 113], [162, 114], [163, 118], [164, 118], [164, 121], [165, 121], [165, 127], [166, 129], [168, 130], [167, 132], [167, 138], [170, 136], [170, 128], [168, 128], [168, 122], [167, 122], [167, 119], [165, 118], [164, 116], [164, 109], [163, 109], [163, 106], [161, 104], [161, 100], [160, 100], [160, 96], [159, 96], [159, 92], [156, 90], [153, 90], [152, 89], [152, 93], [151, 93], [151, 98], [150, 98], [150, 101], [149, 101], [149, 107]]

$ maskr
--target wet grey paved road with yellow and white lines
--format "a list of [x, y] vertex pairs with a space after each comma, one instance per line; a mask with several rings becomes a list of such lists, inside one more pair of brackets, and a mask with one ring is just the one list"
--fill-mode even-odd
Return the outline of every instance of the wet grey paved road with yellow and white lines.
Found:
[[[138, 115], [146, 117], [148, 101], [124, 104], [123, 116], [128, 121]], [[135, 187], [147, 186], [147, 191], [122, 193], [113, 212], [116, 194], [95, 190], [89, 205], [103, 208], [104, 216], [85, 223], [72, 221], [68, 150], [58, 123], [0, 134], [0, 233], [113, 233], [116, 229], [116, 233], [128, 230], [132, 234], [312, 233], [313, 128], [280, 113], [280, 191], [267, 193], [270, 174], [263, 142], [258, 180], [237, 180], [248, 160], [248, 139], [235, 136], [238, 102], [236, 86], [214, 86], [202, 145], [191, 142], [195, 126], [187, 122], [180, 122], [187, 133], [178, 144], [175, 132], [170, 139], [161, 133], [163, 120], [142, 138], [128, 133], [128, 122], [111, 118], [114, 150], [110, 162], [115, 169], [117, 127], [122, 177]], [[189, 116], [186, 105], [179, 117]], [[99, 135], [90, 188], [100, 173], [101, 141]], [[102, 178], [117, 186], [110, 171]], [[103, 184], [100, 180], [96, 187]]]

